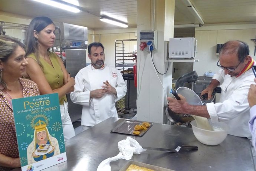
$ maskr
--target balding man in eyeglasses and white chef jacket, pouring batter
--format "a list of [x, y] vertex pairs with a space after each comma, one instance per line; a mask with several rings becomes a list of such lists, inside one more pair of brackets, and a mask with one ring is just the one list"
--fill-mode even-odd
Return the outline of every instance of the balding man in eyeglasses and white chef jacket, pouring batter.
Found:
[[213, 76], [210, 85], [201, 94], [208, 93], [208, 99], [217, 86], [221, 88], [219, 103], [207, 103], [206, 106], [190, 105], [180, 95], [177, 101], [168, 98], [168, 107], [180, 114], [192, 114], [210, 118], [212, 122], [225, 122], [230, 126], [228, 134], [251, 138], [248, 121], [249, 103], [247, 94], [253, 83], [252, 66], [254, 60], [249, 56], [249, 47], [242, 41], [226, 42], [220, 50], [217, 66], [221, 69]]

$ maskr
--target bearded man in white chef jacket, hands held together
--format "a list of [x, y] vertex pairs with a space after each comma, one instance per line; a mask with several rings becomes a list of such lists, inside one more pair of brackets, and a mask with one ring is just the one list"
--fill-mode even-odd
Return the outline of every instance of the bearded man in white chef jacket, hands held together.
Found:
[[104, 64], [104, 46], [99, 42], [88, 46], [91, 65], [79, 70], [75, 76], [75, 91], [70, 93], [73, 103], [83, 106], [83, 130], [110, 117], [118, 117], [115, 102], [125, 96], [127, 86], [121, 73]]

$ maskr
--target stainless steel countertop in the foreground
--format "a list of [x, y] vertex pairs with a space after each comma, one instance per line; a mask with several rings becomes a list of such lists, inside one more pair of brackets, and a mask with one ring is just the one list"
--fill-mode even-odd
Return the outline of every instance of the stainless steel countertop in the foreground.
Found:
[[[65, 142], [68, 161], [43, 171], [96, 171], [98, 165], [119, 153], [117, 143], [127, 135], [111, 132], [124, 119], [109, 118]], [[132, 160], [177, 171], [254, 171], [250, 142], [247, 138], [228, 135], [217, 146], [201, 144], [191, 128], [154, 123], [142, 136], [132, 136], [142, 146], [176, 148], [197, 145], [198, 150], [178, 153], [147, 150], [134, 154]], [[128, 161], [111, 162], [111, 171], [120, 170]]]

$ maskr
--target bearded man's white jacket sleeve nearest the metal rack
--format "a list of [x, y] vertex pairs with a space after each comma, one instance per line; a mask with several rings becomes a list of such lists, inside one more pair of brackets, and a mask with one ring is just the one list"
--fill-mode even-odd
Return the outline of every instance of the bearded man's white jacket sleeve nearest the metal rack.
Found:
[[115, 102], [119, 101], [122, 97], [126, 95], [127, 92], [127, 86], [124, 82], [124, 78], [122, 74], [117, 70], [117, 81], [116, 81], [116, 96], [115, 96]]

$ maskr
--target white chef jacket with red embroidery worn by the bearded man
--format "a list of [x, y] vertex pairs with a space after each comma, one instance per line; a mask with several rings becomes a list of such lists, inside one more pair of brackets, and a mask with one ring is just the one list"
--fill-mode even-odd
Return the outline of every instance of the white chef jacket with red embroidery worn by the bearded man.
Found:
[[[105, 93], [102, 98], [90, 98], [90, 91], [102, 89], [106, 80], [116, 89], [116, 95]], [[127, 86], [116, 68], [105, 64], [104, 68], [95, 69], [88, 65], [79, 70], [75, 82], [75, 91], [70, 93], [70, 99], [83, 105], [81, 125], [93, 126], [109, 117], [118, 117], [115, 102], [125, 96]]]

